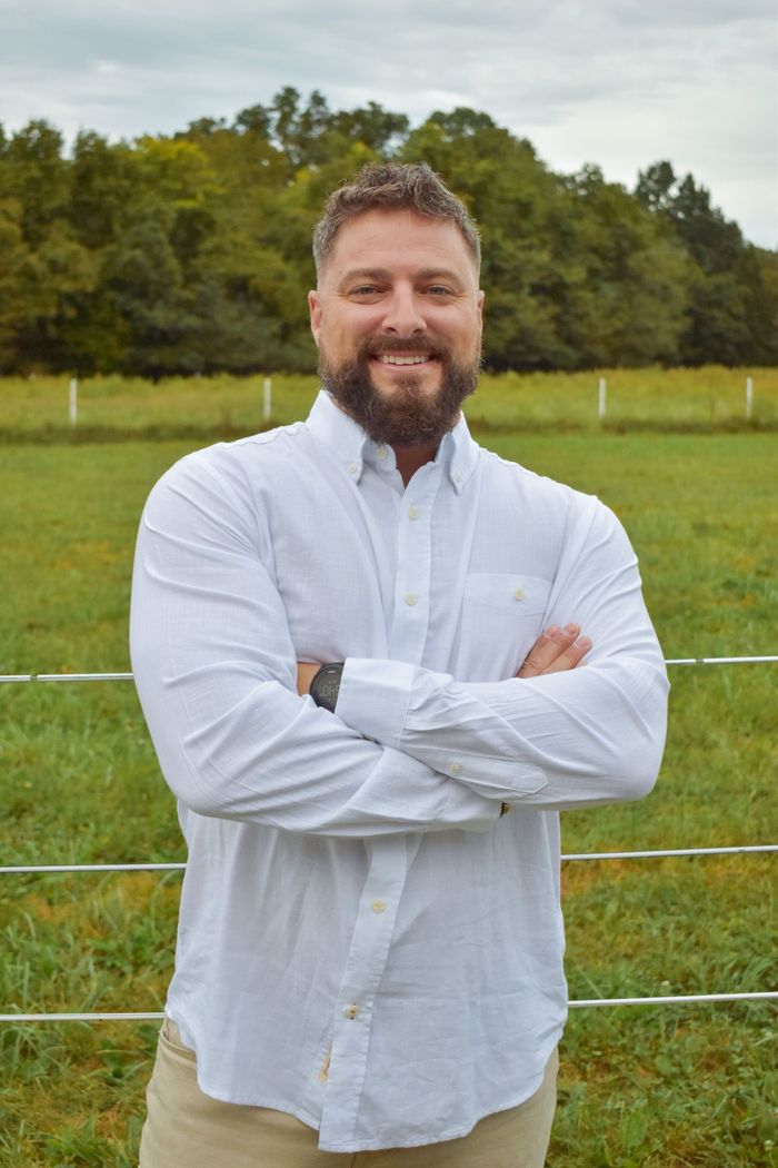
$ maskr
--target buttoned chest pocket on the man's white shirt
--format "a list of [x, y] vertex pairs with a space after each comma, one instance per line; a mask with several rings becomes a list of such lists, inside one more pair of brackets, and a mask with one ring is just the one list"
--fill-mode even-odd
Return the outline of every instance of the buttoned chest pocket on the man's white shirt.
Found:
[[456, 676], [461, 681], [513, 677], [540, 635], [552, 582], [512, 572], [465, 578]]

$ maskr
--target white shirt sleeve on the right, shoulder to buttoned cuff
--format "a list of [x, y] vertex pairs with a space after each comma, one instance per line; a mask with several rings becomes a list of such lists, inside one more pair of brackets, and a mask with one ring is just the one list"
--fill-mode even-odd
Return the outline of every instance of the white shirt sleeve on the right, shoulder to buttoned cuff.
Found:
[[535, 679], [468, 683], [349, 659], [338, 715], [490, 799], [554, 811], [639, 799], [661, 762], [670, 687], [635, 552], [596, 500], [568, 523], [544, 624], [569, 621], [593, 640], [586, 666]]

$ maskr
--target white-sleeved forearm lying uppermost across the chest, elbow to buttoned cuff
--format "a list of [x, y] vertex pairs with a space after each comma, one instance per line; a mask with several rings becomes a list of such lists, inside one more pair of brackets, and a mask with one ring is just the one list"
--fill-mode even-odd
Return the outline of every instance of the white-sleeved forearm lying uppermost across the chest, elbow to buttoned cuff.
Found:
[[664, 670], [644, 661], [467, 683], [400, 662], [350, 660], [338, 711], [488, 798], [561, 809], [651, 788], [666, 694]]

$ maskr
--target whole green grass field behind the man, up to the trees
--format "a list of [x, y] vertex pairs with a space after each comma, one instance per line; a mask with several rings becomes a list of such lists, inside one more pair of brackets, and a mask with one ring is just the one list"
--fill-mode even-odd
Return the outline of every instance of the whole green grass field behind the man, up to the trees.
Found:
[[[484, 445], [616, 509], [667, 658], [778, 652], [776, 373], [752, 371], [742, 432], [720, 431], [737, 429], [745, 373], [607, 376], [612, 429], [596, 422], [597, 375], [490, 380], [469, 415]], [[724, 417], [710, 402], [727, 377]], [[632, 429], [616, 417], [628, 381]], [[274, 416], [303, 416], [311, 384], [280, 382]], [[66, 422], [65, 382], [0, 383], [0, 673], [125, 670], [145, 495], [209, 426], [261, 424], [261, 378], [117, 381], [113, 397], [94, 388], [91, 422], [84, 387], [77, 440], [55, 390]], [[699, 432], [665, 432], [675, 424]], [[674, 668], [656, 792], [566, 814], [565, 850], [775, 842], [777, 669]], [[0, 698], [5, 864], [184, 858], [132, 684], [8, 684]], [[566, 864], [570, 996], [775, 989], [772, 870], [764, 855]], [[178, 889], [175, 874], [2, 876], [0, 1011], [160, 1009]], [[775, 1029], [765, 1002], [572, 1011], [549, 1168], [775, 1164]], [[134, 1164], [155, 1038], [145, 1023], [0, 1026], [0, 1166]]]

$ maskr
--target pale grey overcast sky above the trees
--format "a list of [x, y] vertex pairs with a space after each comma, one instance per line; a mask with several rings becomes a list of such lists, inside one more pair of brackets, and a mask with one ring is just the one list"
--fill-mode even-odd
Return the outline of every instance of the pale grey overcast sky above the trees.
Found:
[[778, 0], [0, 0], [0, 121], [72, 139], [334, 109], [485, 110], [555, 171], [670, 159], [778, 246]]

